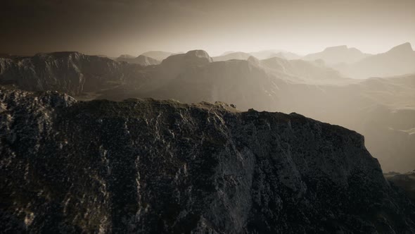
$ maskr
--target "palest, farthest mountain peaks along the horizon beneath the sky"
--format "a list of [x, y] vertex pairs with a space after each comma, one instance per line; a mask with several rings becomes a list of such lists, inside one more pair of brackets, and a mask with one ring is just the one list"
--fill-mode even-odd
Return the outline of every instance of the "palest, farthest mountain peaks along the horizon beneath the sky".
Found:
[[[138, 63], [143, 66], [160, 63], [167, 56], [174, 53], [163, 51], [148, 51], [140, 59], [117, 58], [117, 61]], [[146, 57], [143, 57], [146, 56]], [[346, 45], [327, 47], [321, 52], [300, 56], [288, 51], [264, 50], [255, 52], [228, 51], [220, 56], [212, 57], [213, 61], [228, 61], [232, 59], [247, 60], [250, 56], [258, 59], [285, 58], [287, 60], [324, 61], [330, 68], [338, 70], [347, 78], [388, 77], [415, 73], [415, 51], [409, 42], [393, 47], [381, 54], [366, 54], [359, 49], [349, 48]], [[151, 59], [154, 58], [155, 60]]]

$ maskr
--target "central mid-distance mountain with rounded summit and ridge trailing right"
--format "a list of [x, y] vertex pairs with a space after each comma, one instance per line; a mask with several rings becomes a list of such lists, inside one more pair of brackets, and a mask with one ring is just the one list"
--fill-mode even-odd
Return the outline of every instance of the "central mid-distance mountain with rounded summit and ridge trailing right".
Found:
[[[279, 90], [287, 87], [287, 82], [340, 78], [335, 70], [307, 61], [282, 58], [258, 61], [252, 56], [248, 60], [210, 62], [209, 59], [208, 54], [204, 54], [203, 60], [196, 63], [198, 58], [191, 54], [170, 56], [158, 68], [158, 75], [154, 75], [153, 88], [147, 86], [147, 89], [137, 91], [130, 88], [134, 85], [127, 83], [115, 95], [110, 90], [102, 98], [153, 97], [186, 103], [225, 101], [243, 110], [252, 107], [272, 110], [279, 101]], [[283, 63], [283, 66], [276, 66], [274, 61]]]

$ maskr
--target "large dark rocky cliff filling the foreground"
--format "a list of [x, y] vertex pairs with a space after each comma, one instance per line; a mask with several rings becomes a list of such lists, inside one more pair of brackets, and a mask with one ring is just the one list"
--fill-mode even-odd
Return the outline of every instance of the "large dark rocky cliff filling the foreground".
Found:
[[364, 139], [296, 113], [0, 90], [0, 228], [414, 233]]

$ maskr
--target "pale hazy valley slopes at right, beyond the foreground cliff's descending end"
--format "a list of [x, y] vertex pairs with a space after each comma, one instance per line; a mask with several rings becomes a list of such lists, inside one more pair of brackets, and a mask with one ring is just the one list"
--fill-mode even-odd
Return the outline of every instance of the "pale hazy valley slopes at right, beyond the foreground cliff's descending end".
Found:
[[415, 75], [371, 78], [350, 85], [281, 87], [275, 109], [303, 113], [365, 136], [384, 171], [415, 168]]

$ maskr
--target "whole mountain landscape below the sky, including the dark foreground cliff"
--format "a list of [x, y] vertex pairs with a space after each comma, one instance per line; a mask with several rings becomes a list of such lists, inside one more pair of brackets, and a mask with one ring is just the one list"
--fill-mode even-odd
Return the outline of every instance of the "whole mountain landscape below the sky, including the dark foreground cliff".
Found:
[[0, 56], [0, 230], [414, 233], [410, 44], [280, 52]]

